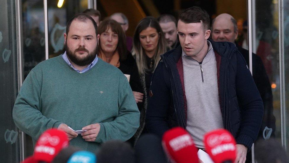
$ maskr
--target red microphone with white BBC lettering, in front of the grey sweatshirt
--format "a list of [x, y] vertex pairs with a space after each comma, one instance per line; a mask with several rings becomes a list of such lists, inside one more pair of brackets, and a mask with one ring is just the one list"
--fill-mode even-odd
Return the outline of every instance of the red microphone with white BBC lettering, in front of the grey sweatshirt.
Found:
[[168, 130], [163, 135], [163, 148], [176, 163], [198, 163], [198, 150], [191, 135], [181, 127]]

